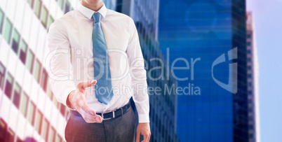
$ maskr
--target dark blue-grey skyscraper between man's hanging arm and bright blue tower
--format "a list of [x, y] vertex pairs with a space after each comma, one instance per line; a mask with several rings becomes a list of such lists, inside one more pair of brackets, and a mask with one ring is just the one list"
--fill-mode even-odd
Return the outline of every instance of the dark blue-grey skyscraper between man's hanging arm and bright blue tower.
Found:
[[148, 88], [160, 89], [160, 94], [149, 93], [151, 141], [179, 141], [175, 134], [177, 96], [175, 90], [171, 93], [168, 92], [170, 90], [168, 87], [177, 84], [176, 80], [167, 70], [169, 66], [163, 65], [164, 74], [168, 73], [169, 75], [163, 79], [155, 80], [162, 74], [161, 69], [153, 69], [156, 66], [161, 66], [161, 62], [154, 59], [161, 59], [163, 63], [166, 60], [157, 41], [159, 1], [117, 0], [116, 11], [129, 15], [135, 21], [143, 57], [148, 63], [145, 64]]

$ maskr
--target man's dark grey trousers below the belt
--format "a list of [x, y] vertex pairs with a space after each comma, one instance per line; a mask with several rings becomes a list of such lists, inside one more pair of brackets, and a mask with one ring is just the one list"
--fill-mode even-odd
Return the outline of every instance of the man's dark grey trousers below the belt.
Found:
[[69, 113], [65, 127], [65, 139], [72, 141], [135, 141], [136, 116], [128, 108], [119, 118], [103, 120], [101, 123], [87, 123], [80, 116]]

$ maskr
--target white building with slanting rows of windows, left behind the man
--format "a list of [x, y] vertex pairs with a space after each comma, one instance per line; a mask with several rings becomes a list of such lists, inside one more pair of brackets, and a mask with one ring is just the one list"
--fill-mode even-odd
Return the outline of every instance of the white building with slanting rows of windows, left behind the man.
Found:
[[[115, 8], [114, 0], [104, 1]], [[68, 108], [48, 85], [50, 24], [79, 0], [1, 0], [0, 141], [65, 141]]]

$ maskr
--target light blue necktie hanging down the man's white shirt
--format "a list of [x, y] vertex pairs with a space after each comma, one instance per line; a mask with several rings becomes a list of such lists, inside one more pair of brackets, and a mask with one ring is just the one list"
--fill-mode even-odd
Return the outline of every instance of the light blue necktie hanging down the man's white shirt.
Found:
[[94, 79], [97, 80], [95, 97], [103, 104], [109, 104], [113, 97], [111, 71], [109, 70], [109, 55], [105, 36], [101, 28], [101, 14], [94, 13], [93, 28], [93, 59]]

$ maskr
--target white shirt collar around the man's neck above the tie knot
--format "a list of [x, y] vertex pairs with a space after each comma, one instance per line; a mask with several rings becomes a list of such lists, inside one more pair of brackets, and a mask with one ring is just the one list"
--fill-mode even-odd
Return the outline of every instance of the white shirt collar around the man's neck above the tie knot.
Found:
[[85, 6], [83, 6], [81, 4], [81, 2], [79, 2], [78, 9], [83, 15], [88, 17], [88, 19], [91, 19], [92, 15], [94, 13], [100, 13], [102, 15], [102, 17], [106, 17], [106, 14], [107, 14], [107, 8], [106, 8], [105, 4], [103, 4], [102, 8], [100, 8], [98, 11], [94, 11], [92, 9], [86, 8]]

